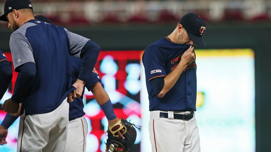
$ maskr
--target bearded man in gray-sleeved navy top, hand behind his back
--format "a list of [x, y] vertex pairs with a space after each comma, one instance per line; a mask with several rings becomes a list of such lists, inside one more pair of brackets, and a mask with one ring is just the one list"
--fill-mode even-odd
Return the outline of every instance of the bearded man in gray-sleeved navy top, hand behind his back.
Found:
[[[1, 21], [14, 31], [9, 46], [17, 85], [2, 107], [11, 114], [21, 104], [17, 151], [65, 151], [69, 103], [82, 95], [100, 47], [93, 41], [36, 20], [28, 0], [7, 0]], [[71, 86], [69, 55], [82, 58]], [[61, 139], [61, 140], [60, 140]]]

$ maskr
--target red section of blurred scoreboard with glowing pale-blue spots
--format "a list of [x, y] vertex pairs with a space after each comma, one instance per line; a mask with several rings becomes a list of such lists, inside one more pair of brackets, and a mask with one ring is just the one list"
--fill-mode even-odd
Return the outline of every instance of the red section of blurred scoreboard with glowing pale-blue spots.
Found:
[[[101, 51], [95, 65], [105, 91], [107, 91], [119, 118], [125, 118], [131, 123], [141, 125], [140, 108], [140, 60], [142, 51]], [[5, 53], [12, 64], [11, 53]], [[12, 69], [14, 70], [13, 64]], [[0, 101], [0, 105], [11, 97], [18, 73], [13, 71], [12, 83]], [[88, 122], [86, 149], [88, 152], [104, 152], [108, 121], [96, 102], [93, 94], [85, 89], [84, 111]], [[5, 117], [0, 109], [0, 123]], [[2, 152], [16, 151], [19, 119], [9, 128], [8, 144], [0, 146]], [[137, 129], [137, 128], [136, 128]], [[141, 133], [137, 129], [137, 139], [130, 151], [140, 150]]]

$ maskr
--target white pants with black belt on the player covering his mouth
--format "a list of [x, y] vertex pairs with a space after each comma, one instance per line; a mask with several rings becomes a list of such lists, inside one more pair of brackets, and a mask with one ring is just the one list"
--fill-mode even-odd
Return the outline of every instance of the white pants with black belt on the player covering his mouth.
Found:
[[[162, 111], [163, 112], [163, 111]], [[150, 111], [149, 132], [152, 152], [200, 152], [199, 130], [196, 124], [195, 112], [188, 121], [173, 118], [160, 118], [160, 111]]]

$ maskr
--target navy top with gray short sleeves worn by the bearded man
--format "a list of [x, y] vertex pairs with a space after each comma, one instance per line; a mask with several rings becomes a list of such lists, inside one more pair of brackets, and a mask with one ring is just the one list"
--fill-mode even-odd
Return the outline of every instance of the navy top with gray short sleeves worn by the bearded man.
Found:
[[63, 27], [35, 19], [11, 34], [9, 45], [15, 71], [27, 62], [34, 62], [37, 68], [34, 83], [22, 101], [21, 113], [49, 113], [59, 107], [75, 89], [69, 54], [80, 57], [80, 51], [88, 41]]

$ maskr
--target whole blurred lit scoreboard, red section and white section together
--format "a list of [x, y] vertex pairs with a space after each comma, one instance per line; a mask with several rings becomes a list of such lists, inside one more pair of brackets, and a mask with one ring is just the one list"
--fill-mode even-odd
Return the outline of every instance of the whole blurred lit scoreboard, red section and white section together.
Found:
[[[251, 49], [195, 50], [197, 63], [196, 120], [201, 151], [255, 152], [254, 52]], [[143, 126], [137, 129], [130, 152], [150, 152], [149, 100], [143, 51], [101, 51], [95, 69], [107, 91], [117, 117]], [[9, 61], [11, 54], [5, 53]], [[11, 63], [11, 62], [10, 62]], [[11, 63], [12, 64], [12, 63]], [[12, 67], [13, 68], [13, 67]], [[12, 84], [0, 101], [11, 97]], [[88, 122], [87, 152], [105, 152], [108, 122], [93, 94], [85, 90]], [[0, 108], [0, 123], [5, 113]], [[9, 128], [8, 144], [0, 151], [16, 151], [19, 119]]]

